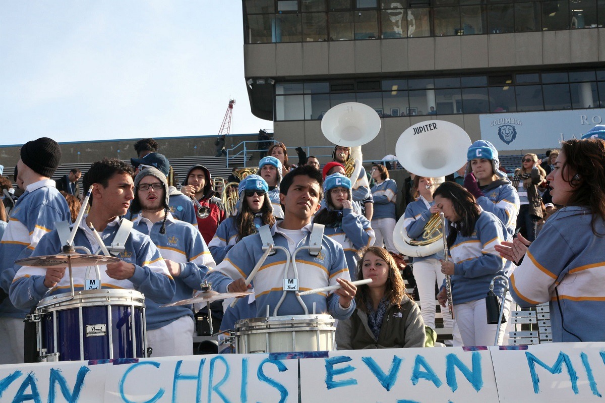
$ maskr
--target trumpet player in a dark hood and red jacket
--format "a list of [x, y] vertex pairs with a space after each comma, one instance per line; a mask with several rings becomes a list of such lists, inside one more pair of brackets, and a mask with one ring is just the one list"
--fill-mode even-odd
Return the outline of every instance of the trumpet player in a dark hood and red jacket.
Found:
[[206, 244], [209, 244], [217, 232], [218, 224], [226, 217], [220, 198], [215, 197], [212, 190], [212, 176], [210, 171], [200, 164], [189, 168], [185, 179], [185, 185], [181, 193], [198, 200], [202, 206], [208, 207], [208, 217], [197, 217], [197, 226]]

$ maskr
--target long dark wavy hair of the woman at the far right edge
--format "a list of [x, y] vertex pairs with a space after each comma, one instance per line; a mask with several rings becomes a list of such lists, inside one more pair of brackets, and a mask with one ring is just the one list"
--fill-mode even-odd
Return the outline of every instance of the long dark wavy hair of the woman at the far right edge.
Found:
[[[565, 154], [561, 177], [574, 187], [567, 206], [589, 208], [592, 211], [592, 233], [605, 235], [596, 228], [598, 218], [605, 221], [605, 141], [567, 140], [561, 143], [561, 152]], [[567, 180], [567, 177], [571, 179]]]

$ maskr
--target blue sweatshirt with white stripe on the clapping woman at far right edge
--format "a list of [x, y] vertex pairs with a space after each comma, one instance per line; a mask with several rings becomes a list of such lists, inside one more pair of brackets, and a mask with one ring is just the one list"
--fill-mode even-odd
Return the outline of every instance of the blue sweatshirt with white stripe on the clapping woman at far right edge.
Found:
[[[511, 275], [512, 297], [520, 306], [550, 302], [554, 342], [605, 339], [605, 237], [593, 234], [590, 220], [587, 208], [555, 212]], [[605, 234], [600, 218], [596, 228]]]

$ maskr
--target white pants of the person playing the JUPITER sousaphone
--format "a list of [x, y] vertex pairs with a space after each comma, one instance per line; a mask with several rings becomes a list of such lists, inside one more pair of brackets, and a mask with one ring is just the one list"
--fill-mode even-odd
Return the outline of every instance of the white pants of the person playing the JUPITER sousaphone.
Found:
[[[437, 286], [441, 287], [445, 274], [441, 272], [441, 262], [436, 258], [428, 258], [412, 265], [414, 279], [418, 287], [420, 297], [420, 314], [424, 319], [424, 324], [435, 329], [435, 281]], [[452, 319], [448, 309], [442, 308], [443, 327], [454, 328], [454, 319]]]

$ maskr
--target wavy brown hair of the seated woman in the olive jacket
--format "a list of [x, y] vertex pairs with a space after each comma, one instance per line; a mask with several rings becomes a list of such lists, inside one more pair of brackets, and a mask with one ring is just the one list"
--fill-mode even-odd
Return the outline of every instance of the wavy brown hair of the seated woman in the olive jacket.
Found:
[[[387, 249], [378, 246], [364, 246], [359, 249], [359, 252], [357, 252], [357, 255], [359, 257], [359, 261], [357, 263], [357, 278], [359, 280], [363, 280], [364, 278], [364, 258], [365, 254], [367, 254], [368, 252], [373, 253], [377, 257], [387, 262], [388, 277], [387, 283], [385, 284], [386, 289], [383, 297], [394, 306], [401, 308], [401, 300], [404, 298], [405, 295], [408, 294], [405, 292], [404, 279], [401, 277], [401, 273], [399, 272], [399, 266], [397, 266], [397, 263], [395, 262], [391, 254], [387, 251]], [[408, 297], [410, 296], [408, 295]], [[367, 308], [365, 307], [365, 305], [368, 301], [371, 302], [370, 287], [368, 287], [367, 284], [358, 286], [357, 293], [355, 294], [355, 302], [357, 303], [358, 309], [367, 312]]]

